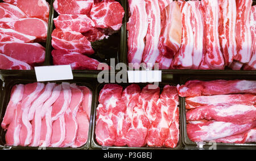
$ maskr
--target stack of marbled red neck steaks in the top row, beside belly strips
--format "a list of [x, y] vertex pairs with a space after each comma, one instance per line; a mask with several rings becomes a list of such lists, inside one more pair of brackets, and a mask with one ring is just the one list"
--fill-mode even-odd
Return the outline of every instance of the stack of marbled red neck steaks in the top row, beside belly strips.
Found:
[[70, 64], [73, 70], [100, 70], [100, 63], [87, 57], [94, 53], [91, 42], [107, 39], [122, 27], [125, 11], [121, 4], [114, 0], [56, 0], [53, 7], [59, 14], [53, 19], [53, 63]]

